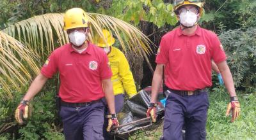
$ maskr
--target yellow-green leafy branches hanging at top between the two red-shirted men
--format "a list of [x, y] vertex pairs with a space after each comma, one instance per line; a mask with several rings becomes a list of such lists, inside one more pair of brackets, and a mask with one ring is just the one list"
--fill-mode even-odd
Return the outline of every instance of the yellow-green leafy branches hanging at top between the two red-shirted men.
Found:
[[175, 25], [177, 23], [172, 4], [164, 3], [163, 0], [113, 0], [109, 3], [106, 1], [100, 3], [102, 3], [102, 8], [99, 8], [98, 12], [113, 15], [134, 25], [138, 25], [141, 20], [154, 23], [158, 28], [165, 24]]

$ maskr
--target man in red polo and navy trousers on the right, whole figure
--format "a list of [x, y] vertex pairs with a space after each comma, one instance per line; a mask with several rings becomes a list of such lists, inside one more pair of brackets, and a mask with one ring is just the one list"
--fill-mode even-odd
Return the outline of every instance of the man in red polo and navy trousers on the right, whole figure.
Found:
[[168, 32], [161, 39], [156, 57], [156, 70], [152, 80], [152, 99], [147, 115], [156, 121], [156, 98], [161, 87], [163, 66], [164, 84], [170, 94], [166, 99], [163, 139], [182, 139], [182, 126], [186, 139], [205, 139], [205, 125], [211, 87], [211, 60], [217, 64], [225, 87], [230, 94], [227, 113], [232, 111], [231, 122], [240, 113], [232, 74], [226, 62], [223, 46], [214, 32], [202, 29], [197, 21], [202, 15], [200, 0], [175, 0], [175, 13], [180, 27]]

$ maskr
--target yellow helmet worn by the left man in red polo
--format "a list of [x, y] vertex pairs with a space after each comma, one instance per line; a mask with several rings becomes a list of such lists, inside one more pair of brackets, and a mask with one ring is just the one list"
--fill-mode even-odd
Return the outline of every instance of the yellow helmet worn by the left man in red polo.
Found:
[[88, 27], [88, 17], [81, 8], [72, 8], [64, 15], [64, 30]]

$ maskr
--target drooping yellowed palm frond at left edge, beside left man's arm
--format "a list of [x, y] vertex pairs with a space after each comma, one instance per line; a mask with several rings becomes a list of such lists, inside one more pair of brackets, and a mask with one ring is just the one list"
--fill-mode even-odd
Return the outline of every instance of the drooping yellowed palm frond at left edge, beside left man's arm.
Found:
[[0, 88], [12, 97], [12, 90], [20, 90], [20, 85], [28, 84], [31, 75], [38, 73], [35, 55], [19, 41], [0, 31]]

